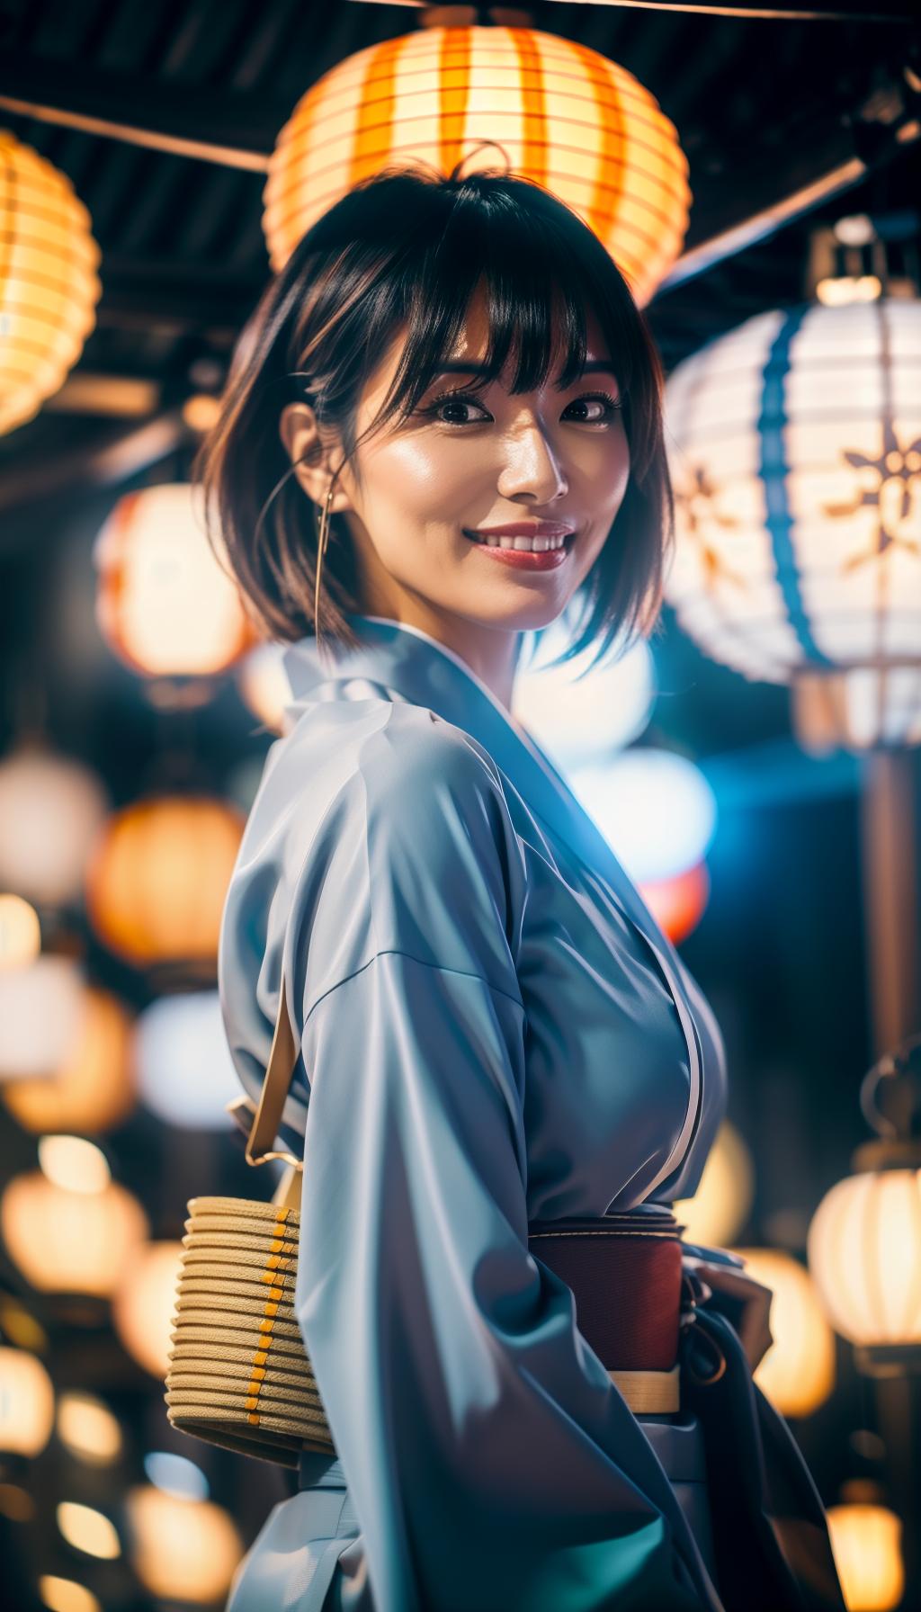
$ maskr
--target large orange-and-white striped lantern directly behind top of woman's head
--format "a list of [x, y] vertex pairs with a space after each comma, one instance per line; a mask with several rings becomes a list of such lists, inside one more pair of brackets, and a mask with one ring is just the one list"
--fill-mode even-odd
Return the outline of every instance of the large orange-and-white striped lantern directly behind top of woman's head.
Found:
[[658, 102], [587, 45], [532, 27], [424, 27], [347, 56], [297, 103], [269, 160], [273, 269], [361, 179], [424, 161], [495, 168], [552, 190], [611, 253], [644, 306], [687, 231], [687, 158]]

